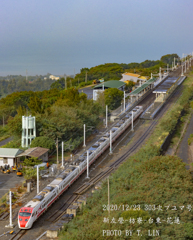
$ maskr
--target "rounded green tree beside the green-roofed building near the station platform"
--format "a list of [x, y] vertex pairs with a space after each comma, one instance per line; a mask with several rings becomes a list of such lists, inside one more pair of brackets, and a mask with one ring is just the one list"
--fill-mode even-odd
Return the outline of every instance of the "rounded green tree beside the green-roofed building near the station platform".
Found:
[[121, 105], [121, 100], [123, 99], [123, 92], [117, 88], [108, 88], [104, 92], [105, 95], [105, 105], [109, 106], [109, 109], [116, 109]]

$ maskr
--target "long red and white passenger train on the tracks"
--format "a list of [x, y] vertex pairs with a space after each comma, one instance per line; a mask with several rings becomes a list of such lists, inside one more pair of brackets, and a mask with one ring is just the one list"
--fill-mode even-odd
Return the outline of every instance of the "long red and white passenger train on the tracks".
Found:
[[[142, 106], [136, 106], [133, 110], [133, 121], [143, 112]], [[112, 142], [114, 142], [126, 128], [131, 125], [132, 113], [127, 113], [114, 127]], [[89, 165], [91, 165], [110, 145], [110, 132], [106, 132], [96, 143], [88, 149]], [[19, 210], [18, 226], [21, 229], [29, 229], [33, 223], [52, 205], [54, 201], [86, 170], [87, 151], [71, 163], [66, 169], [48, 184], [37, 196]]]

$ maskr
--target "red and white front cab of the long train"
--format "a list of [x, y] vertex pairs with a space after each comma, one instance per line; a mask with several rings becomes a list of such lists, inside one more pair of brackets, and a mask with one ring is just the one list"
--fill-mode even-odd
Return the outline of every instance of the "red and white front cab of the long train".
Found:
[[18, 214], [18, 225], [19, 228], [29, 229], [32, 227], [32, 212], [33, 208], [21, 208]]

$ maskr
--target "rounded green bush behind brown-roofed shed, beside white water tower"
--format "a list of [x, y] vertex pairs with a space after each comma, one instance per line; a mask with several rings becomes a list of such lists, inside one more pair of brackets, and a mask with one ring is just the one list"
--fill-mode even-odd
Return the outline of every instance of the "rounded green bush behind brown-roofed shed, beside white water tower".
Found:
[[44, 136], [36, 137], [35, 139], [33, 139], [30, 147], [43, 147], [48, 148], [50, 150], [56, 149], [54, 140]]

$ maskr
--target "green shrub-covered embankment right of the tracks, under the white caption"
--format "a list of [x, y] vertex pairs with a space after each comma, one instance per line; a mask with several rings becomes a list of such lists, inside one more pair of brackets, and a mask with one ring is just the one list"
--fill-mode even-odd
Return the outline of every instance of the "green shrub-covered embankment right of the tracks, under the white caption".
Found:
[[[88, 198], [87, 205], [83, 207], [79, 215], [65, 226], [60, 239], [131, 239], [125, 234], [121, 236], [103, 236], [103, 230], [118, 229], [132, 230], [132, 239], [138, 239], [137, 229], [141, 230], [140, 239], [151, 239], [147, 230], [161, 231], [156, 239], [192, 239], [193, 213], [187, 210], [187, 204], [193, 201], [192, 177], [185, 170], [185, 164], [177, 157], [160, 156], [160, 147], [165, 137], [171, 132], [181, 116], [182, 110], [189, 109], [189, 100], [193, 97], [193, 73], [190, 74], [184, 85], [183, 94], [173, 107], [162, 117], [155, 128], [151, 138], [132, 157], [125, 161], [119, 169], [110, 177], [110, 202], [112, 205], [121, 206], [119, 210], [111, 211], [110, 216], [104, 205], [108, 204], [107, 182], [102, 189], [96, 191]], [[123, 206], [140, 205], [140, 210], [129, 211]], [[161, 205], [163, 211], [147, 210], [147, 205]], [[171, 208], [166, 211], [164, 206], [178, 206], [178, 211]], [[185, 206], [183, 211], [179, 206]], [[162, 223], [155, 223], [157, 218]], [[175, 222], [179, 217], [180, 224]], [[112, 223], [112, 220], [117, 223]], [[142, 218], [142, 223], [137, 222]], [[169, 223], [171, 218], [173, 223]], [[123, 219], [122, 223], [118, 220]], [[135, 223], [131, 223], [135, 219]], [[150, 219], [153, 222], [150, 223]], [[170, 220], [171, 220], [170, 219]], [[106, 222], [104, 222], [106, 220]], [[109, 220], [109, 223], [108, 223]]]

